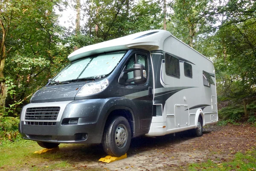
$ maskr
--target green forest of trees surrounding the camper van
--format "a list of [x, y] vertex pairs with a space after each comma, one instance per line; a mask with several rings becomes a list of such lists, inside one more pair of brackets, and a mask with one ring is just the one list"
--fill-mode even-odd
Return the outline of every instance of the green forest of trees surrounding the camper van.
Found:
[[[67, 7], [75, 26], [58, 22]], [[0, 28], [0, 139], [15, 139], [23, 105], [71, 52], [150, 29], [214, 62], [221, 124], [256, 126], [255, 0], [0, 0]]]

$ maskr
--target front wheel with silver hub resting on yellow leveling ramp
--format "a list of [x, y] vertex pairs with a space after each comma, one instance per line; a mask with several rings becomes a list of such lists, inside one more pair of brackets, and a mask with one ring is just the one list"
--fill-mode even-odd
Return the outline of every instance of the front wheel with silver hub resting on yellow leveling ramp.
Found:
[[127, 119], [122, 116], [117, 116], [109, 121], [103, 133], [102, 145], [108, 155], [120, 157], [130, 147], [131, 128]]

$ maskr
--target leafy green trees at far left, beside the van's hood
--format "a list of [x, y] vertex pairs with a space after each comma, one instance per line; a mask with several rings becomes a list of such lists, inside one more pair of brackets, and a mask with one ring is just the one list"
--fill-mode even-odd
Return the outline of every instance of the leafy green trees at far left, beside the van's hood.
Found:
[[[6, 106], [8, 93], [4, 75], [9, 75], [15, 80], [16, 87], [13, 88], [16, 89], [17, 98], [24, 99], [28, 95], [27, 90], [29, 93], [34, 91], [28, 89], [32, 80], [38, 78], [39, 74], [43, 74], [44, 79], [50, 74], [54, 55], [58, 51], [56, 49], [59, 40], [55, 32], [61, 32], [56, 26], [57, 16], [53, 12], [53, 7], [57, 3], [58, 0], [1, 0], [0, 106]], [[38, 60], [38, 70], [33, 66], [35, 60]], [[45, 63], [44, 61], [48, 61], [47, 65], [39, 67]], [[5, 69], [5, 65], [8, 69]], [[20, 86], [23, 87], [21, 90]], [[13, 100], [11, 99], [8, 104]]]

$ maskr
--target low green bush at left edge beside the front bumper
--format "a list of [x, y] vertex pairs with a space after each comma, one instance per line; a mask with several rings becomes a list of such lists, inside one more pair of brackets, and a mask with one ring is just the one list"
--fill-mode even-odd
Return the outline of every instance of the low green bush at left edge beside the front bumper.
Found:
[[19, 122], [18, 118], [0, 116], [0, 139], [16, 139]]

